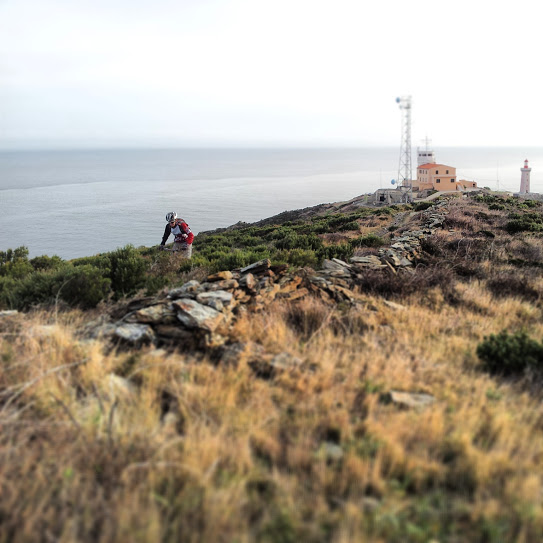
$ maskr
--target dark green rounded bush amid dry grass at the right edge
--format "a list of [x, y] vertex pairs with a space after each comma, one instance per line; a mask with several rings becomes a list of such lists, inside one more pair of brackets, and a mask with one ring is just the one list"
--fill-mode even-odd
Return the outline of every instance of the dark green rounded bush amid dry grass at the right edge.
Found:
[[526, 332], [508, 334], [502, 330], [490, 335], [477, 346], [477, 356], [490, 373], [513, 375], [531, 368], [543, 369], [543, 343], [531, 339]]

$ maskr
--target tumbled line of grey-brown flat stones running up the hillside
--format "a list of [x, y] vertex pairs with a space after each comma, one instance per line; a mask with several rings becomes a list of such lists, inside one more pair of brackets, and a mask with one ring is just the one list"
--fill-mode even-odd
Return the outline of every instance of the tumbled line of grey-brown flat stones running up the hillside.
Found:
[[[419, 229], [403, 231], [378, 255], [354, 256], [349, 262], [325, 260], [317, 271], [289, 271], [286, 265], [272, 266], [263, 259], [241, 269], [209, 275], [203, 282], [188, 281], [159, 298], [132, 300], [124, 314], [113, 313], [110, 322], [100, 322], [86, 335], [107, 336], [130, 347], [153, 344], [183, 350], [212, 349], [220, 363], [233, 364], [246, 355], [246, 347], [231, 337], [232, 325], [240, 314], [260, 311], [274, 300], [296, 301], [309, 295], [327, 303], [356, 303], [357, 283], [368, 270], [412, 272], [422, 252], [421, 240], [443, 225], [445, 213], [444, 205], [439, 204], [422, 212]], [[258, 350], [252, 352], [248, 363], [262, 376], [301, 365], [286, 353], [271, 355]]]

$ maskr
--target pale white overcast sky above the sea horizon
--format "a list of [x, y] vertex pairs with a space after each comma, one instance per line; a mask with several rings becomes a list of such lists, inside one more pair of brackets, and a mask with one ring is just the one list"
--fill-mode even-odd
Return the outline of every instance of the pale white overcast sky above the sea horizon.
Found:
[[0, 147], [543, 144], [528, 0], [0, 0]]

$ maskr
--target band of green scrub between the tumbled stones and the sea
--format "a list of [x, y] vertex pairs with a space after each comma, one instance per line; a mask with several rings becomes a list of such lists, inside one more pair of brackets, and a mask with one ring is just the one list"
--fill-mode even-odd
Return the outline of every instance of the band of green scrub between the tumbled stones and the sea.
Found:
[[156, 248], [132, 245], [70, 262], [57, 256], [29, 260], [26, 247], [9, 249], [0, 252], [0, 308], [27, 310], [63, 302], [88, 309], [139, 291], [153, 294], [181, 283], [183, 273], [195, 269], [230, 270], [262, 258], [274, 264], [317, 267], [325, 258], [348, 259], [359, 247], [384, 245], [375, 230], [382, 229], [399, 209], [330, 213], [311, 220], [200, 234], [194, 242], [194, 257], [185, 262]]

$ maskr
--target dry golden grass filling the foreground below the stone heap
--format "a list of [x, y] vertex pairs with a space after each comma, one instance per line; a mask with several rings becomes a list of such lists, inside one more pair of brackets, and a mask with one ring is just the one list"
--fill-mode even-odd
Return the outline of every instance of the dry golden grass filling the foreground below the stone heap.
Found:
[[475, 349], [543, 337], [541, 307], [455, 288], [454, 307], [434, 289], [247, 315], [232, 339], [303, 361], [271, 380], [243, 356], [108, 354], [80, 313], [6, 320], [0, 541], [539, 541], [541, 396]]

